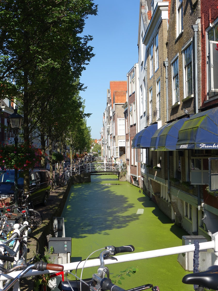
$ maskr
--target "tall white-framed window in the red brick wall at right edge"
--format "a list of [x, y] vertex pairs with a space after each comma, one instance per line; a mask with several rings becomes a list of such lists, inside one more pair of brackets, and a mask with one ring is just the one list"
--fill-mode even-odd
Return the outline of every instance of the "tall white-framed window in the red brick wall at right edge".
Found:
[[207, 99], [218, 96], [218, 19], [207, 29]]

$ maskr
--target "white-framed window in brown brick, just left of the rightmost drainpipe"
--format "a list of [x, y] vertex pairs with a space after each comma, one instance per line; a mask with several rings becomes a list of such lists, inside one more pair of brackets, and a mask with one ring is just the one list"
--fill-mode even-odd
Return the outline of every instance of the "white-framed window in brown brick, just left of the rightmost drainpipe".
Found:
[[[185, 55], [188, 52], [190, 52], [190, 48], [191, 48], [191, 56], [190, 56], [190, 60], [186, 61], [185, 60]], [[184, 91], [184, 98], [188, 97], [188, 96], [194, 96], [193, 95], [193, 62], [192, 62], [192, 39], [187, 43], [187, 45], [185, 45], [182, 48], [182, 53], [183, 53], [183, 91]], [[188, 91], [188, 84], [190, 83], [190, 79], [188, 78], [188, 68], [189, 66], [191, 66], [191, 71], [192, 71], [192, 75], [191, 75], [191, 92]]]

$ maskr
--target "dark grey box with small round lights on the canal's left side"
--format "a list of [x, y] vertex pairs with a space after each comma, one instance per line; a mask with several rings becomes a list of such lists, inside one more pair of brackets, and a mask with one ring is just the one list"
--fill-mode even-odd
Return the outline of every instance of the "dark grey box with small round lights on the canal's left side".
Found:
[[49, 238], [49, 249], [51, 246], [53, 246], [54, 251], [53, 253], [56, 254], [66, 254], [70, 253], [71, 255], [71, 237], [50, 237]]

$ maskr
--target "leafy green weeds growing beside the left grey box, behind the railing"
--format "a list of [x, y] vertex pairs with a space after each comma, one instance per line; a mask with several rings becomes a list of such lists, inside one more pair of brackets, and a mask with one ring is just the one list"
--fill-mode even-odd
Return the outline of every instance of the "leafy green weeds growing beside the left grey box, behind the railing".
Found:
[[[54, 252], [54, 248], [53, 246], [50, 247], [50, 250], [48, 251], [47, 247], [45, 246], [45, 253], [43, 255], [42, 258], [40, 258], [40, 254], [38, 253], [36, 255], [36, 259], [37, 261], [43, 261], [43, 262], [46, 262], [46, 263], [49, 263], [49, 264], [52, 264], [53, 262], [50, 261], [50, 255], [53, 254]], [[49, 274], [43, 274], [41, 276], [38, 276], [34, 279], [34, 287], [33, 287], [33, 291], [39, 291], [40, 290], [40, 285], [47, 285], [48, 284], [48, 281], [50, 280], [50, 275]]]

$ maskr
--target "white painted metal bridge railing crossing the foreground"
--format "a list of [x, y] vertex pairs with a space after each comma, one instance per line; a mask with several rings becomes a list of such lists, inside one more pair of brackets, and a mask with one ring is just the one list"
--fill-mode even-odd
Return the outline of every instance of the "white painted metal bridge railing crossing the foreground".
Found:
[[[216, 255], [216, 260], [215, 260], [215, 265], [218, 265], [218, 232], [212, 235], [212, 241], [211, 242], [202, 242], [199, 244], [199, 250], [205, 250], [205, 249], [214, 249], [214, 253]], [[175, 246], [171, 248], [166, 248], [166, 249], [159, 249], [159, 250], [152, 250], [152, 251], [144, 251], [140, 253], [130, 253], [126, 255], [118, 255], [115, 256], [117, 260], [110, 260], [107, 259], [107, 265], [109, 264], [117, 264], [121, 262], [129, 262], [129, 261], [136, 261], [136, 260], [144, 260], [148, 258], [156, 258], [156, 257], [162, 257], [165, 255], [174, 255], [174, 254], [179, 254], [179, 253], [187, 253], [194, 251], [194, 244], [190, 245], [185, 245], [185, 246]], [[69, 264], [64, 264], [64, 271], [69, 271], [69, 270], [75, 270], [76, 267], [77, 269], [82, 269], [84, 265], [84, 262], [73, 262]], [[89, 267], [97, 267], [100, 266], [100, 260], [99, 259], [93, 259], [93, 260], [88, 260], [85, 263], [84, 268], [89, 268]], [[16, 271], [16, 272], [11, 272], [10, 274], [1, 274], [0, 273], [0, 280], [8, 280], [15, 278], [21, 271]], [[42, 274], [48, 274], [48, 273], [55, 273], [54, 271], [36, 271], [36, 270], [31, 270], [25, 274], [25, 277], [30, 277], [30, 276], [37, 276], [37, 275], [42, 275]]]

